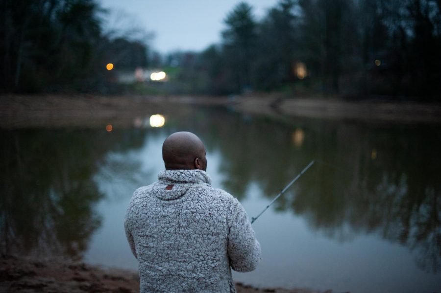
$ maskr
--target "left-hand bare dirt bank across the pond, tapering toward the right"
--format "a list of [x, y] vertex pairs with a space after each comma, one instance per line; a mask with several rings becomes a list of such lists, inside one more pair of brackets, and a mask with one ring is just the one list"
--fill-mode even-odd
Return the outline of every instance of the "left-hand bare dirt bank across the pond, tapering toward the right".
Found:
[[0, 95], [0, 127], [94, 127], [110, 121], [131, 126], [134, 117], [182, 109], [176, 105], [226, 103], [226, 98], [185, 96]]

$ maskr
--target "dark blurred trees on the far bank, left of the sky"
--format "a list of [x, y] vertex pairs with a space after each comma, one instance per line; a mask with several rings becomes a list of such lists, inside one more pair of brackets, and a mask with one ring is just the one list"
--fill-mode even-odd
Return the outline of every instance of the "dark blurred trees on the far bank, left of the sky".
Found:
[[109, 62], [147, 66], [145, 40], [103, 29], [95, 0], [1, 0], [0, 91], [105, 91]]

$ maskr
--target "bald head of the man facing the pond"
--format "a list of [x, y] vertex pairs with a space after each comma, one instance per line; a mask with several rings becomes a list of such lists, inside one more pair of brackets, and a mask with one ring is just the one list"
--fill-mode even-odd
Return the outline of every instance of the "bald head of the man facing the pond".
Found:
[[162, 145], [162, 159], [167, 170], [206, 170], [206, 150], [191, 132], [175, 132]]

